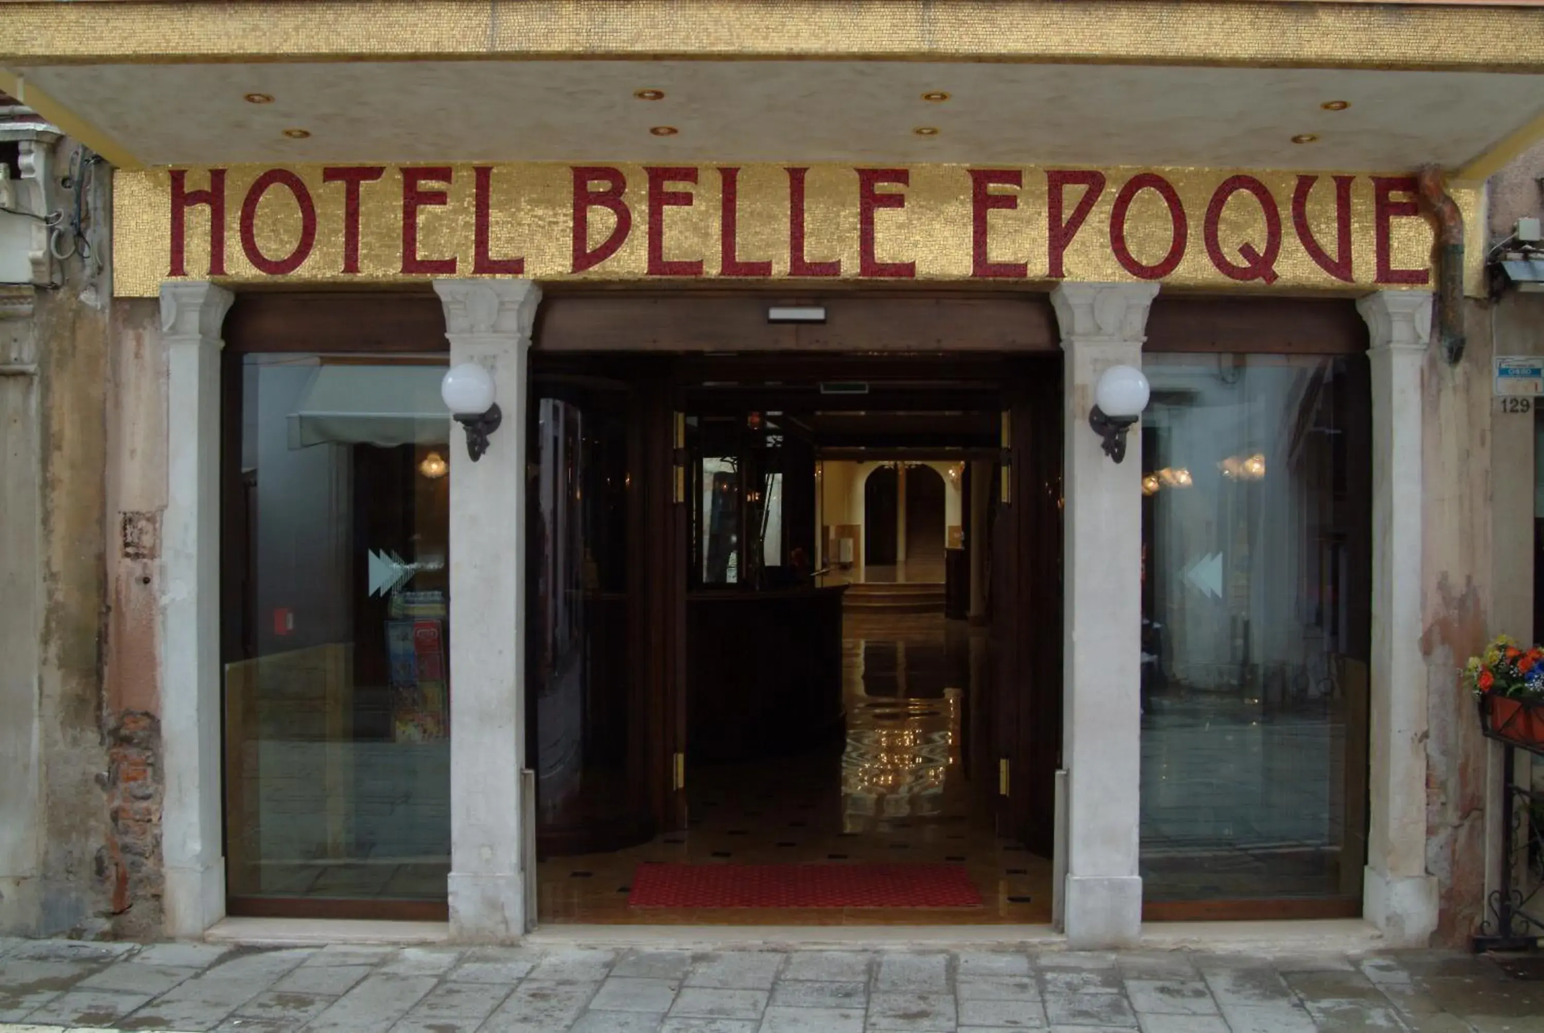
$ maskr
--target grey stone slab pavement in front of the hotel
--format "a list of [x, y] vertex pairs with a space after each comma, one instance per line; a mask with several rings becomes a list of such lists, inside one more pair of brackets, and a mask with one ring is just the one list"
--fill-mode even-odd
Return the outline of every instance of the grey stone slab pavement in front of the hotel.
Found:
[[[8, 1025], [14, 1024], [14, 1025]], [[1453, 953], [227, 948], [0, 940], [0, 1033], [1544, 1033]]]

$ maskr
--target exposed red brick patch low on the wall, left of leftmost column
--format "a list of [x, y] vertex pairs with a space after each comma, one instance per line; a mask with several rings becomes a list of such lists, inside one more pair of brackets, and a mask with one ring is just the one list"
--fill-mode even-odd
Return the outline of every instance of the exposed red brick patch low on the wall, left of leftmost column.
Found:
[[124, 710], [108, 729], [107, 800], [111, 821], [99, 876], [111, 894], [114, 933], [130, 939], [161, 933], [161, 721]]

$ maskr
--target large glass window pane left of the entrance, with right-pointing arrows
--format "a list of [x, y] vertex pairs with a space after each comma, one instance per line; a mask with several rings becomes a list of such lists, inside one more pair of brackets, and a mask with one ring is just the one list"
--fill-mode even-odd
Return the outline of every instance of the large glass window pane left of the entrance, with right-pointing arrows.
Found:
[[236, 361], [230, 909], [426, 916], [443, 909], [451, 855], [443, 358]]

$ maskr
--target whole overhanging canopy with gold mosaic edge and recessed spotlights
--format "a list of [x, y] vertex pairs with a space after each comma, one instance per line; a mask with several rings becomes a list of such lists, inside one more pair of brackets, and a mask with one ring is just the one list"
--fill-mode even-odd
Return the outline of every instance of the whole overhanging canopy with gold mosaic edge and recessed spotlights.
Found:
[[[1437, 162], [1488, 174], [1544, 133], [1544, 17], [1515, 5], [6, 3], [0, 66], [12, 73], [0, 88], [127, 167]], [[667, 96], [639, 103], [639, 88]], [[931, 90], [951, 97], [920, 103]], [[244, 103], [253, 91], [275, 103]], [[1331, 116], [1328, 100], [1351, 107]], [[661, 124], [679, 133], [650, 136]], [[283, 136], [296, 127], [310, 136]], [[1311, 147], [1291, 144], [1305, 133]]]

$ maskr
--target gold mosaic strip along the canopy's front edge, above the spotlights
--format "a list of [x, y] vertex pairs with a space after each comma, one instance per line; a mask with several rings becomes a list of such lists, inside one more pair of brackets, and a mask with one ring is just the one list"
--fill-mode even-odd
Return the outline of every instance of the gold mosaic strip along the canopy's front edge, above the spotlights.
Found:
[[913, 57], [1535, 71], [1513, 6], [1238, 0], [5, 3], [0, 62], [174, 57]]

